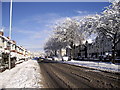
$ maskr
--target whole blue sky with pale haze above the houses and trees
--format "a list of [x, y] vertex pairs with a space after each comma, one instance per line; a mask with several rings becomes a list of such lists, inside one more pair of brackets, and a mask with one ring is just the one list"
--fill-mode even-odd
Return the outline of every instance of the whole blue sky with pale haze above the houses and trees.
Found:
[[[108, 2], [13, 2], [12, 39], [31, 51], [42, 51], [51, 26], [65, 17], [100, 13]], [[2, 26], [9, 32], [9, 2], [2, 3]]]

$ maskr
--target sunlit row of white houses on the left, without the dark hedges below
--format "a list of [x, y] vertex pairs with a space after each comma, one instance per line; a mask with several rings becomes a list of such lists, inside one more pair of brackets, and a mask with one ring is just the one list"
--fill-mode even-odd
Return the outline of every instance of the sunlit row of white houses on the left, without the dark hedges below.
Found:
[[16, 44], [14, 40], [10, 40], [9, 37], [4, 36], [4, 32], [0, 31], [0, 59], [2, 54], [10, 54], [11, 58], [28, 59], [31, 57], [30, 51]]

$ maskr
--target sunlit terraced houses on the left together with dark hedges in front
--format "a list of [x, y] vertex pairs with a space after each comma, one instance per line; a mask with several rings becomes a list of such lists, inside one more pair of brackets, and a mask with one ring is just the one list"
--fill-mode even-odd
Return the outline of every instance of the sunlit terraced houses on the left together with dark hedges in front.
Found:
[[10, 40], [4, 36], [4, 32], [0, 31], [0, 67], [8, 68], [8, 58], [10, 55], [11, 65], [15, 66], [15, 62], [20, 60], [28, 60], [31, 58], [30, 51], [16, 44], [16, 41]]

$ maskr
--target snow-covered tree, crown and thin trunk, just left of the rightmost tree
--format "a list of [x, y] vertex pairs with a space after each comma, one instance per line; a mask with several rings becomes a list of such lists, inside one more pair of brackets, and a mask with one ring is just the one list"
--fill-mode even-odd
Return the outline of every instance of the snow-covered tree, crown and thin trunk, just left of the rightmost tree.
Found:
[[[85, 57], [87, 58], [87, 40], [92, 38], [95, 39], [98, 32], [96, 30], [97, 25], [99, 24], [100, 15], [89, 15], [85, 16], [79, 21], [79, 31], [82, 32], [82, 36], [86, 43], [82, 43], [85, 50]], [[94, 37], [94, 38], [93, 38]]]

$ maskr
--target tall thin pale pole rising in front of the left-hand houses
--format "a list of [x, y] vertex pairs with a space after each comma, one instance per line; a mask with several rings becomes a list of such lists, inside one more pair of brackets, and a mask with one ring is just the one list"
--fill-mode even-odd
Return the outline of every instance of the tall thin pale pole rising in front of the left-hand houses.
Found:
[[[12, 0], [10, 1], [10, 31], [9, 31], [9, 39], [11, 40], [11, 32], [12, 32]], [[11, 46], [9, 47], [10, 53], [9, 53], [9, 69], [11, 69]]]

